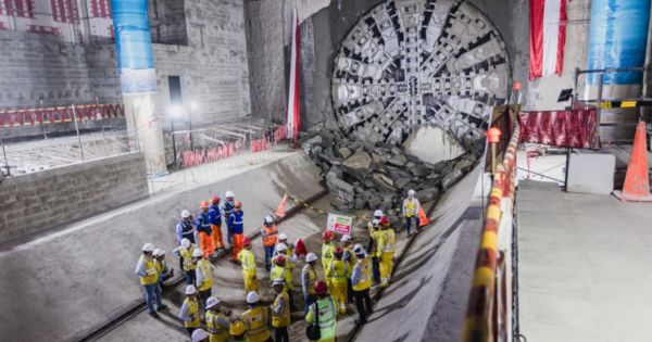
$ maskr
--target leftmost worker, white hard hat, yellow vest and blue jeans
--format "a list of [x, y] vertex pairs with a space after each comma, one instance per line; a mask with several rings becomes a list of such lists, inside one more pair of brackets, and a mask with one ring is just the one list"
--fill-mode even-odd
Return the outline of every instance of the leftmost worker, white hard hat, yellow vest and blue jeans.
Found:
[[154, 253], [154, 245], [152, 243], [146, 243], [142, 245], [142, 255], [138, 259], [136, 266], [136, 274], [140, 278], [140, 283], [145, 288], [145, 302], [147, 303], [147, 309], [153, 317], [159, 317], [159, 314], [154, 311], [154, 300], [156, 301], [156, 308], [159, 311], [166, 308], [161, 301], [161, 288], [159, 288], [159, 273], [156, 271], [156, 265], [152, 254]]

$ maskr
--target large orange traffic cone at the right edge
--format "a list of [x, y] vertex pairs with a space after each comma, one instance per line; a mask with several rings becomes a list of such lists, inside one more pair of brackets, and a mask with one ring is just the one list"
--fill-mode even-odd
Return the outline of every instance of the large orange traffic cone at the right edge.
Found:
[[623, 191], [614, 191], [614, 195], [626, 202], [652, 202], [650, 194], [650, 177], [648, 175], [648, 151], [645, 142], [645, 123], [639, 122], [634, 137], [634, 148], [627, 165], [627, 175]]

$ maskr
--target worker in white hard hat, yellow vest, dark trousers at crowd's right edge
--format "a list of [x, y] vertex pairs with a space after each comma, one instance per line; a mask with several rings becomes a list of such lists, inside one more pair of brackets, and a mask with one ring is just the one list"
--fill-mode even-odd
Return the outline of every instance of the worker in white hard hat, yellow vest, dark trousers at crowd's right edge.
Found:
[[353, 299], [358, 308], [359, 318], [356, 325], [364, 325], [366, 317], [372, 313], [372, 297], [369, 296], [369, 288], [372, 287], [372, 261], [366, 255], [362, 244], [356, 244], [353, 248], [353, 253], [358, 257], [358, 263], [353, 267], [351, 275], [351, 284], [353, 286]]

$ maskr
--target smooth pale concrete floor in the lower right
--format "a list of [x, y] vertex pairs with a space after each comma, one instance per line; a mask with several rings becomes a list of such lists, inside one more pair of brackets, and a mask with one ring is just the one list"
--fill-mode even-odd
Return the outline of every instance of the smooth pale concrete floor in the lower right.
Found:
[[650, 341], [652, 205], [522, 181], [521, 333], [528, 341]]

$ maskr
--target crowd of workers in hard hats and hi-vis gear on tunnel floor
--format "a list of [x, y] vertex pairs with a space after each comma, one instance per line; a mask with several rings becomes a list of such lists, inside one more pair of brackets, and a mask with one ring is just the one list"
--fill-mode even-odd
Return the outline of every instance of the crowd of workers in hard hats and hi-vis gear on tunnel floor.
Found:
[[[411, 221], [419, 227], [417, 214], [421, 204], [414, 194], [410, 190], [402, 205], [409, 235], [413, 233]], [[179, 256], [187, 282], [186, 299], [178, 317], [192, 341], [229, 341], [231, 338], [250, 342], [289, 341], [288, 327], [294, 311], [292, 269], [303, 255], [303, 314], [305, 321], [314, 325], [313, 331], [318, 331], [317, 337], [309, 338], [312, 341], [335, 341], [337, 316], [346, 314], [347, 303], [355, 303], [359, 315], [355, 324], [366, 322], [372, 313], [371, 288], [374, 283], [387, 287], [393, 268], [396, 232], [383, 211], [375, 211], [368, 223], [366, 248], [361, 243], [354, 244], [350, 235], [343, 235], [336, 245], [335, 233], [330, 230], [323, 232], [322, 275], [316, 269], [317, 256], [308, 253], [301, 240], [297, 241], [297, 245], [289, 243], [288, 236], [278, 232], [274, 217], [266, 216], [261, 237], [264, 266], [269, 273], [275, 299], [272, 305], [265, 306], [259, 295], [258, 264], [251, 241], [243, 237], [242, 203], [234, 200], [231, 191], [227, 191], [225, 198], [222, 204], [218, 197], [202, 201], [197, 218], [184, 210], [176, 226], [179, 246], [174, 254]], [[213, 276], [209, 258], [216, 257], [221, 249], [226, 249], [221, 231], [223, 217], [227, 223], [226, 240], [233, 248], [231, 258], [241, 266], [244, 283], [248, 309], [238, 317], [231, 317], [231, 311], [222, 308], [220, 300], [212, 295]], [[145, 288], [149, 314], [158, 317], [156, 311], [166, 308], [161, 301], [161, 287], [174, 276], [174, 270], [165, 262], [165, 252], [146, 243], [136, 273]], [[202, 322], [205, 330], [201, 328]], [[274, 328], [274, 339], [271, 328]]]

